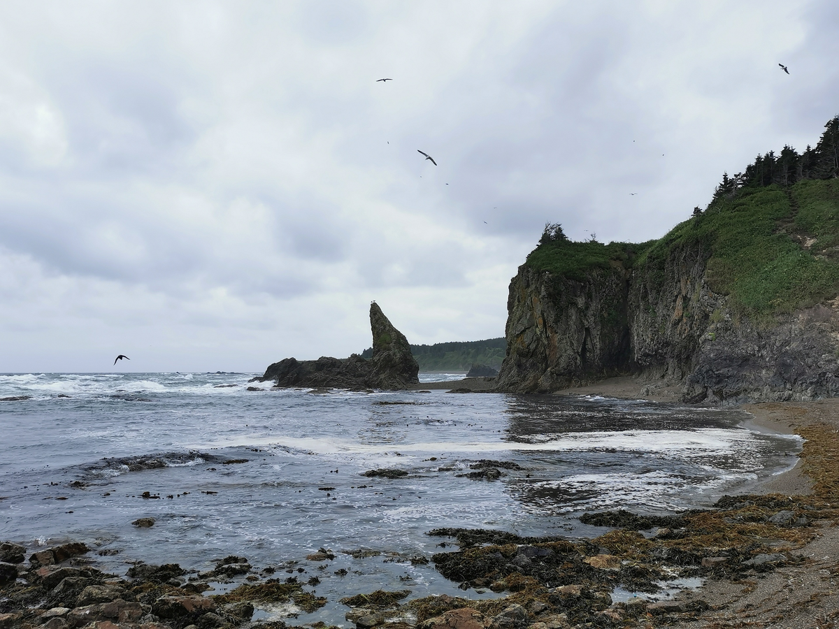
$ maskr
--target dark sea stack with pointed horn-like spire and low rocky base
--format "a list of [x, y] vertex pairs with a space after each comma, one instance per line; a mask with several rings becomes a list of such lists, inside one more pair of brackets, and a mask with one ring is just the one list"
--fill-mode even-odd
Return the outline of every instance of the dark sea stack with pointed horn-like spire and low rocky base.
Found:
[[265, 370], [260, 382], [274, 381], [275, 387], [378, 388], [391, 391], [420, 382], [420, 366], [411, 354], [405, 335], [373, 302], [370, 305], [373, 358], [353, 354], [349, 358], [320, 356], [316, 361], [285, 358]]

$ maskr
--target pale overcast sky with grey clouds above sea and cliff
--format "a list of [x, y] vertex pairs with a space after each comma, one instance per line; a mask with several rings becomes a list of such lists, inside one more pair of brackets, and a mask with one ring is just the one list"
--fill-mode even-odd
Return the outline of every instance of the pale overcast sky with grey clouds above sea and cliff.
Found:
[[373, 299], [502, 336], [545, 221], [661, 237], [815, 144], [837, 34], [835, 0], [2, 3], [0, 372], [348, 356]]

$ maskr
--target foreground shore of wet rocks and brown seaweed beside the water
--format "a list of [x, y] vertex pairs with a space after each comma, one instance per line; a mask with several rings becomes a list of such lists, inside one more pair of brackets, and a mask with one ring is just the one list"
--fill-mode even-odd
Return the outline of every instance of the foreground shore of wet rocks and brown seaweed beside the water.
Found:
[[[827, 546], [835, 551], [839, 537], [834, 528], [839, 518], [839, 470], [833, 463], [839, 452], [839, 403], [758, 405], [749, 410], [763, 425], [791, 429], [808, 439], [800, 470], [786, 475], [798, 479], [799, 495], [726, 496], [711, 509], [661, 517], [586, 514], [584, 522], [613, 529], [581, 541], [435, 529], [428, 534], [440, 538], [441, 552], [411, 560], [434, 564], [446, 579], [460, 584], [463, 597], [412, 600], [409, 590], [378, 590], [341, 599], [347, 622], [361, 629], [565, 629], [685, 622], [694, 627], [743, 626], [736, 622], [748, 617], [748, 626], [768, 626], [760, 623], [769, 622], [771, 611], [765, 619], [755, 618], [752, 608], [738, 608], [744, 598], [764, 584], [780, 587], [789, 574], [800, 574], [802, 582], [812, 574], [820, 579], [839, 575], [839, 564], [830, 563], [836, 559], [821, 560], [825, 566], [817, 568], [818, 559], [810, 550], [825, 553]], [[808, 481], [804, 486], [802, 479]], [[179, 564], [138, 562], [125, 574], [107, 574], [96, 568], [93, 554], [84, 543], [65, 543], [27, 558], [23, 546], [3, 543], [0, 627], [279, 629], [293, 626], [294, 613], [289, 611], [315, 611], [326, 604], [316, 594], [317, 577], [305, 580], [294, 568], [259, 569], [240, 556], [218, 559], [213, 569], [203, 572]], [[332, 551], [321, 548], [307, 559], [328, 563], [331, 558]], [[685, 579], [704, 585], [672, 599], [662, 595], [662, 584], [678, 585]], [[211, 589], [218, 583], [226, 584], [220, 593]], [[492, 590], [501, 597], [472, 600], [470, 590]], [[801, 614], [836, 602], [829, 584], [817, 579], [810, 590], [796, 590], [799, 616], [790, 617], [812, 617]], [[254, 618], [254, 610], [281, 607], [287, 611], [283, 620], [265, 614]], [[826, 608], [824, 613], [829, 616], [831, 611]]]

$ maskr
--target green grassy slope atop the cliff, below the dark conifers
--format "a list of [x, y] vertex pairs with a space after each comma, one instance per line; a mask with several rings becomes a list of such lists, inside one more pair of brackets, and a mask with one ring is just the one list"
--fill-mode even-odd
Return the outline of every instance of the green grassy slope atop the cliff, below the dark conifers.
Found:
[[785, 312], [833, 297], [839, 294], [839, 179], [743, 188], [718, 197], [663, 238], [640, 244], [549, 234], [526, 264], [577, 280], [616, 265], [656, 273], [681, 247], [701, 247], [709, 287], [730, 295], [744, 314]]

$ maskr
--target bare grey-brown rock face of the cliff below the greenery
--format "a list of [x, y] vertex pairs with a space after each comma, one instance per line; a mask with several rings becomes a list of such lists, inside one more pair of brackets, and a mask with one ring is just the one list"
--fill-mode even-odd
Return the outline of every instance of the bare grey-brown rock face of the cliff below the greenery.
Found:
[[618, 374], [682, 387], [685, 402], [839, 395], [839, 299], [769, 320], [709, 288], [701, 245], [663, 263], [592, 269], [582, 281], [528, 265], [510, 283], [498, 388], [555, 391]]

